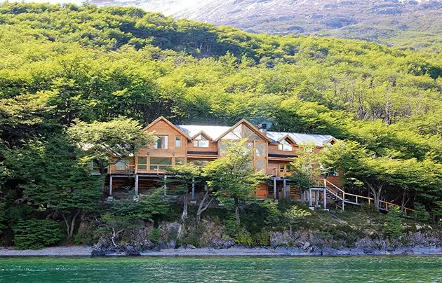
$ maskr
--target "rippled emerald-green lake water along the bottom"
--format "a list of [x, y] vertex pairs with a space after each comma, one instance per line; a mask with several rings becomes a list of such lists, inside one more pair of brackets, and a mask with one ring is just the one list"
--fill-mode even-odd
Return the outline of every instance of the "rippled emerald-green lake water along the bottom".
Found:
[[441, 282], [442, 257], [0, 258], [0, 282]]

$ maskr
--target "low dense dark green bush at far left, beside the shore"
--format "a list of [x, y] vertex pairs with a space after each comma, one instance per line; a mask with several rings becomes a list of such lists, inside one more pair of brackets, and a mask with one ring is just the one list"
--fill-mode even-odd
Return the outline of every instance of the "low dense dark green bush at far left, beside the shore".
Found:
[[42, 249], [63, 238], [59, 223], [53, 220], [18, 221], [13, 230], [15, 247], [18, 249]]

